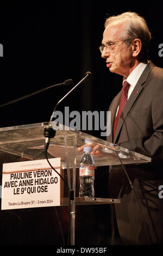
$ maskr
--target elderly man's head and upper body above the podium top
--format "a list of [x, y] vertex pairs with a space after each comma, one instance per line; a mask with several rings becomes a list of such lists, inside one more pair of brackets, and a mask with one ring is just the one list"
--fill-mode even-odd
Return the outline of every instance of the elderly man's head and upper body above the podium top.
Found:
[[111, 72], [123, 76], [122, 93], [126, 94], [126, 105], [118, 109], [121, 92], [111, 103], [113, 133], [109, 141], [163, 159], [163, 70], [147, 60], [150, 40], [145, 20], [135, 13], [105, 22], [102, 57]]

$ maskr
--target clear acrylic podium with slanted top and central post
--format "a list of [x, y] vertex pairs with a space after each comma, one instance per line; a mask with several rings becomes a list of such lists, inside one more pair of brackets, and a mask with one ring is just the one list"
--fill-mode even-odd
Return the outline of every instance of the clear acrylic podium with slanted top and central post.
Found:
[[[9, 156], [5, 157], [5, 162], [16, 162], [17, 156], [21, 157], [23, 159], [22, 161], [24, 161], [24, 159], [27, 161], [45, 159], [45, 153], [43, 152], [45, 137], [43, 131], [46, 126], [50, 125], [54, 127], [54, 124], [55, 122], [50, 124], [37, 123], [0, 128], [0, 157], [2, 153]], [[99, 148], [101, 148], [102, 155], [93, 157], [96, 167], [114, 166], [122, 163], [147, 163], [151, 161], [149, 157], [112, 145], [102, 139], [87, 135], [81, 131], [72, 130], [70, 127], [59, 124], [59, 130], [56, 131], [55, 137], [51, 139], [48, 148], [48, 157], [61, 157], [61, 168], [62, 170], [67, 170], [68, 187], [74, 191], [74, 200], [71, 202], [71, 245], [74, 245], [75, 241], [76, 205], [120, 203], [120, 199], [114, 198], [95, 197], [91, 199], [76, 196], [76, 169], [79, 168], [79, 161], [83, 155], [83, 152], [78, 151], [78, 148], [86, 143], [98, 145]], [[3, 161], [4, 160], [1, 159], [1, 162]], [[64, 197], [64, 189], [64, 185], [61, 185], [62, 206], [68, 205], [68, 198]]]

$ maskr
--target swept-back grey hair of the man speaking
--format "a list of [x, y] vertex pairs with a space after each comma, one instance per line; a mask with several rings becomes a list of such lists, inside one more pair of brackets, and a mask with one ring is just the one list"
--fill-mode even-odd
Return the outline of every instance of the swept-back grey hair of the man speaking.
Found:
[[[123, 33], [123, 37], [127, 36], [128, 39], [134, 40], [138, 38], [142, 42], [142, 49], [140, 52], [141, 61], [147, 59], [149, 42], [151, 41], [151, 33], [149, 31], [147, 22], [139, 14], [128, 11], [117, 16], [110, 16], [106, 19], [104, 26], [108, 27], [113, 22], [120, 22], [126, 24], [126, 31]], [[131, 43], [130, 41], [130, 43]], [[129, 44], [126, 41], [126, 44]]]

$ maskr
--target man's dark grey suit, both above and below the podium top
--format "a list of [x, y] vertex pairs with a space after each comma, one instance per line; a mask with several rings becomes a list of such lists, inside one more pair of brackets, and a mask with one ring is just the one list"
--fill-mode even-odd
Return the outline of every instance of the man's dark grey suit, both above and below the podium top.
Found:
[[[109, 108], [111, 131], [120, 97], [121, 92]], [[158, 197], [163, 185], [163, 69], [148, 63], [123, 109], [115, 139], [111, 133], [108, 141], [152, 158], [152, 163], [126, 165], [134, 190], [123, 168], [112, 167], [109, 196], [121, 198], [121, 204], [111, 206], [114, 238], [120, 234], [128, 245], [163, 242], [163, 198]]]

